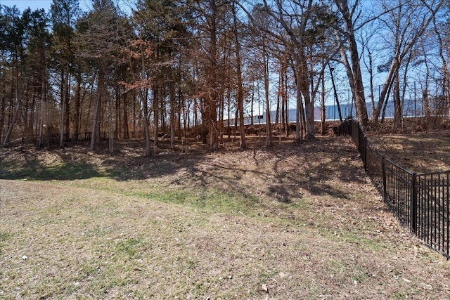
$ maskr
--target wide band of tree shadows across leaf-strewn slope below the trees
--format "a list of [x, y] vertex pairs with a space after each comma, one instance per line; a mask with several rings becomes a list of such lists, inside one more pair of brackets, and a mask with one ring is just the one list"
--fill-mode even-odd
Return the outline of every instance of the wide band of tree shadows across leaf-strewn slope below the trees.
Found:
[[49, 157], [42, 158], [38, 151], [24, 152], [20, 159], [0, 162], [0, 178], [71, 181], [107, 177], [123, 182], [164, 179], [163, 184], [181, 188], [214, 188], [256, 202], [265, 197], [289, 204], [304, 193], [347, 199], [347, 191], [334, 182], [339, 179], [360, 183], [364, 176], [356, 148], [343, 138], [212, 154], [162, 152], [150, 158], [141, 155], [140, 147], [120, 143], [114, 155], [102, 150], [90, 153], [85, 148], [54, 150], [50, 152], [53, 162]]

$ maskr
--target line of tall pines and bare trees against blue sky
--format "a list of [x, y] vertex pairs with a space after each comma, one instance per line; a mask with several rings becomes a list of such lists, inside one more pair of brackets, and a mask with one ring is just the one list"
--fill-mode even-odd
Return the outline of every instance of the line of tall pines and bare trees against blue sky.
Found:
[[423, 84], [425, 117], [435, 107], [431, 85], [448, 116], [449, 10], [444, 0], [135, 0], [127, 11], [113, 0], [93, 0], [89, 11], [78, 0], [53, 0], [48, 12], [0, 6], [0, 142], [31, 136], [45, 147], [58, 134], [64, 147], [89, 133], [94, 150], [106, 132], [110, 150], [118, 139], [145, 138], [151, 155], [161, 132], [172, 148], [191, 132], [214, 151], [223, 127], [234, 125], [245, 148], [243, 119], [262, 103], [269, 146], [273, 123], [288, 134], [290, 98], [300, 141], [314, 138], [314, 105], [325, 107], [326, 93], [339, 105], [341, 74], [366, 129], [382, 121], [389, 95], [401, 127], [411, 78]]

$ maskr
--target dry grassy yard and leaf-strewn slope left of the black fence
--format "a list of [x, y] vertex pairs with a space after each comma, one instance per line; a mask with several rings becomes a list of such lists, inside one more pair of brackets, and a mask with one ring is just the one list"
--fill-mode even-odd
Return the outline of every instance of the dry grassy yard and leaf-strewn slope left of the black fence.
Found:
[[0, 299], [449, 299], [347, 138], [0, 164]]

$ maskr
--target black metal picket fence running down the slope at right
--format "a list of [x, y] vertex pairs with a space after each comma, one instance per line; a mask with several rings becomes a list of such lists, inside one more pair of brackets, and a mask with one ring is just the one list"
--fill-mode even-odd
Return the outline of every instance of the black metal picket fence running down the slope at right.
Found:
[[359, 123], [344, 130], [359, 150], [364, 169], [402, 226], [450, 259], [450, 171], [416, 174], [384, 157]]

